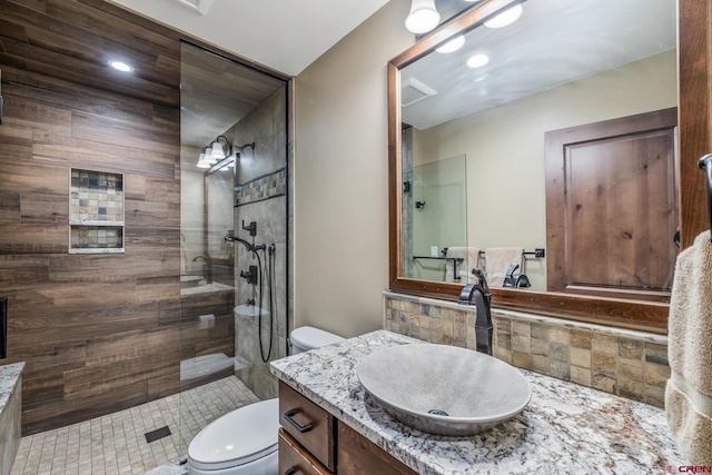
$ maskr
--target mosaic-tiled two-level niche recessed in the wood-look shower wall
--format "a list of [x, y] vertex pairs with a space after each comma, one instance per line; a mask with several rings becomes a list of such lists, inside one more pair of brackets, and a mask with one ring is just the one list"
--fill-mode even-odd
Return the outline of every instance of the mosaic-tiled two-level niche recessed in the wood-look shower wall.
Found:
[[69, 254], [123, 253], [123, 176], [70, 171]]

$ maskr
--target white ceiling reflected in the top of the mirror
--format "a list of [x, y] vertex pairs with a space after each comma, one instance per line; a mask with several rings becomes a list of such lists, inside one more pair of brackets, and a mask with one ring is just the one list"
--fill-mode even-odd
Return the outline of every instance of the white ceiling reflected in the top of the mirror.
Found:
[[[437, 93], [403, 107], [417, 129], [485, 110], [676, 46], [674, 0], [527, 0], [502, 29], [479, 27], [454, 53], [432, 52], [400, 72]], [[468, 68], [484, 52], [490, 62]], [[408, 88], [405, 92], [413, 92]]]

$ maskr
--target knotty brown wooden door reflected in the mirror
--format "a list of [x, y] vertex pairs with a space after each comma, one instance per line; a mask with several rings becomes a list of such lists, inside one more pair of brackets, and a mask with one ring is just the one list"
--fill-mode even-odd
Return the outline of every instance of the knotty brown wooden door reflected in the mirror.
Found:
[[668, 301], [678, 109], [546, 132], [547, 289]]

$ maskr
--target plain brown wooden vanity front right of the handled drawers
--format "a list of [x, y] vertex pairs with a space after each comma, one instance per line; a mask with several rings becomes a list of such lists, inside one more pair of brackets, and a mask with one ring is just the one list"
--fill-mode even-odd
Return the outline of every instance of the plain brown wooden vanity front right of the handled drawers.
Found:
[[338, 475], [417, 475], [344, 423], [338, 425]]

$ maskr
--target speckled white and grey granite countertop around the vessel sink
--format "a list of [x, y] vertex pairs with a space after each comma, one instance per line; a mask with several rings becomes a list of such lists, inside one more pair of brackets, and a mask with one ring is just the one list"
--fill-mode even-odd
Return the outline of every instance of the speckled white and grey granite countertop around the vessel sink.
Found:
[[378, 330], [271, 364], [279, 379], [421, 474], [664, 473], [683, 465], [665, 413], [643, 403], [521, 369], [532, 402], [472, 437], [424, 434], [366, 394], [356, 366], [374, 350], [423, 342]]

